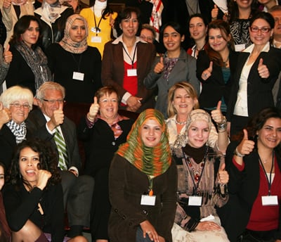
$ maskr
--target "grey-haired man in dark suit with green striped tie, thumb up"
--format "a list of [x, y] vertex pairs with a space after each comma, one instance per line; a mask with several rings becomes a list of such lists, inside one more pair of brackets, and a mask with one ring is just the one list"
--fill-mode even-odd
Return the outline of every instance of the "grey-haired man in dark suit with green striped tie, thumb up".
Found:
[[[70, 231], [67, 236], [81, 235], [84, 226], [89, 226], [93, 178], [79, 176], [77, 134], [74, 122], [63, 114], [65, 89], [55, 82], [45, 82], [37, 91], [39, 108], [33, 110], [26, 121], [27, 130], [33, 137], [49, 141], [58, 153], [58, 169], [62, 177], [63, 200], [67, 208]], [[65, 155], [55, 138], [56, 132], [63, 137]], [[63, 159], [63, 160], [61, 160]], [[61, 164], [63, 163], [63, 165]]]

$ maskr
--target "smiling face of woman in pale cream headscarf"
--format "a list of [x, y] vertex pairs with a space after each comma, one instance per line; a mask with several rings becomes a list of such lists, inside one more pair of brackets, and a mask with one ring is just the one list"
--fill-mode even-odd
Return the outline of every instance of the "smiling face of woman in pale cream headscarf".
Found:
[[188, 129], [188, 144], [200, 148], [207, 143], [209, 138], [209, 124], [205, 120], [195, 120]]

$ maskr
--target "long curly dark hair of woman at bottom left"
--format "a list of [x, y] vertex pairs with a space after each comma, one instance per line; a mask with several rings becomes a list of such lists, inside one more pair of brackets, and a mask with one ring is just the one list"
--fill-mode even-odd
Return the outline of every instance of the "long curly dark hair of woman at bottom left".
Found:
[[61, 177], [60, 173], [58, 172], [58, 155], [56, 155], [50, 145], [48, 145], [46, 142], [40, 141], [39, 139], [22, 141], [22, 143], [16, 147], [11, 162], [11, 167], [8, 171], [8, 183], [15, 185], [18, 189], [20, 184], [23, 183], [32, 189], [30, 184], [22, 179], [22, 175], [20, 174], [19, 159], [20, 153], [24, 148], [31, 148], [32, 151], [38, 153], [40, 169], [51, 172], [52, 176], [50, 179], [48, 179], [45, 189], [48, 189], [48, 187], [51, 185], [60, 183]]

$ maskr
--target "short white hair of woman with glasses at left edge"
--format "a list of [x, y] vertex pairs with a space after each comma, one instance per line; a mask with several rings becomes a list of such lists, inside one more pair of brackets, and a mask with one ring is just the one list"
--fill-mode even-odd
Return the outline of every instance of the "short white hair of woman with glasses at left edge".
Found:
[[32, 110], [33, 94], [27, 87], [13, 86], [6, 89], [0, 96], [0, 101], [4, 108], [9, 108], [10, 104], [15, 101], [26, 100]]

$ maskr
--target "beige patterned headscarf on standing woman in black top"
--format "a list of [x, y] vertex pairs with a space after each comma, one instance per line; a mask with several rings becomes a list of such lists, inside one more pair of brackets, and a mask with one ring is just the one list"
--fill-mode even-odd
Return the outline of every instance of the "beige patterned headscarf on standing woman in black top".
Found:
[[[70, 29], [75, 20], [83, 21], [86, 27], [86, 35], [84, 39], [81, 40], [81, 42], [74, 42], [70, 37]], [[60, 44], [60, 46], [62, 46], [63, 49], [65, 49], [65, 51], [68, 51], [70, 53], [83, 53], [88, 48], [87, 37], [88, 37], [88, 23], [86, 19], [79, 14], [73, 14], [69, 18], [67, 18], [67, 21], [65, 23], [65, 36], [60, 42], [58, 42], [58, 44]]]

